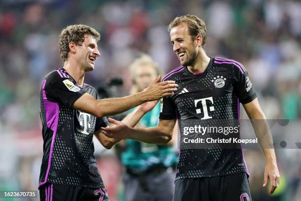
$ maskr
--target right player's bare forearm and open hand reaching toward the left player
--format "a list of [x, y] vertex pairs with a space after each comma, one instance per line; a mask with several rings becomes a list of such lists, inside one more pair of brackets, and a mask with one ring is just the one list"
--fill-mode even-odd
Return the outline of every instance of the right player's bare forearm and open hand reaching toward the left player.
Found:
[[173, 136], [173, 129], [176, 119], [160, 120], [158, 126], [148, 129], [130, 128], [126, 124], [108, 119], [109, 122], [116, 124], [115, 127], [102, 128], [103, 133], [109, 138], [115, 139], [135, 139], [150, 144], [167, 144]]

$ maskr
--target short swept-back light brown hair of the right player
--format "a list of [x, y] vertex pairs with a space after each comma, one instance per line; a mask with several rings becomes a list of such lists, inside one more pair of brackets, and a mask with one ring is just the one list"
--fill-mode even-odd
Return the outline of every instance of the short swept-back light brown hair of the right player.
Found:
[[171, 31], [174, 27], [179, 26], [180, 24], [187, 24], [189, 34], [191, 36], [197, 36], [198, 34], [203, 36], [202, 47], [205, 48], [206, 38], [207, 38], [207, 30], [206, 24], [203, 20], [198, 18], [195, 15], [182, 15], [180, 17], [176, 17], [168, 26], [168, 32]]

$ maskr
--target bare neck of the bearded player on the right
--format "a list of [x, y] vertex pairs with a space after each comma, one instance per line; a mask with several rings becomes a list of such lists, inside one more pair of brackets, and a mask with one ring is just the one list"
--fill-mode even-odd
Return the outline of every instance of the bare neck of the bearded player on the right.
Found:
[[204, 50], [198, 52], [195, 62], [188, 66], [188, 70], [192, 73], [204, 72], [210, 63], [210, 57], [208, 57]]

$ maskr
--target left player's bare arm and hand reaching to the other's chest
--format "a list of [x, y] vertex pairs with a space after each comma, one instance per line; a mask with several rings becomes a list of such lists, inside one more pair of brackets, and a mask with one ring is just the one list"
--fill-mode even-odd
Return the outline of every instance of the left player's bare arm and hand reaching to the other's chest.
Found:
[[75, 109], [87, 112], [97, 117], [111, 116], [127, 111], [147, 101], [159, 100], [177, 91], [175, 81], [159, 82], [159, 75], [144, 91], [116, 99], [95, 100], [90, 94], [84, 94], [73, 104]]

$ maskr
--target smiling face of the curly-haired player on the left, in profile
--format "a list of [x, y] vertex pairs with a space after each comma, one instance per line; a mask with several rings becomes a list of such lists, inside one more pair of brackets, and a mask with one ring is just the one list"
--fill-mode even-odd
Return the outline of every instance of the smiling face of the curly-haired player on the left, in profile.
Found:
[[97, 49], [96, 39], [89, 34], [85, 34], [84, 37], [82, 45], [77, 45], [75, 57], [77, 63], [85, 71], [91, 71], [94, 69], [96, 58], [100, 57], [100, 53]]

